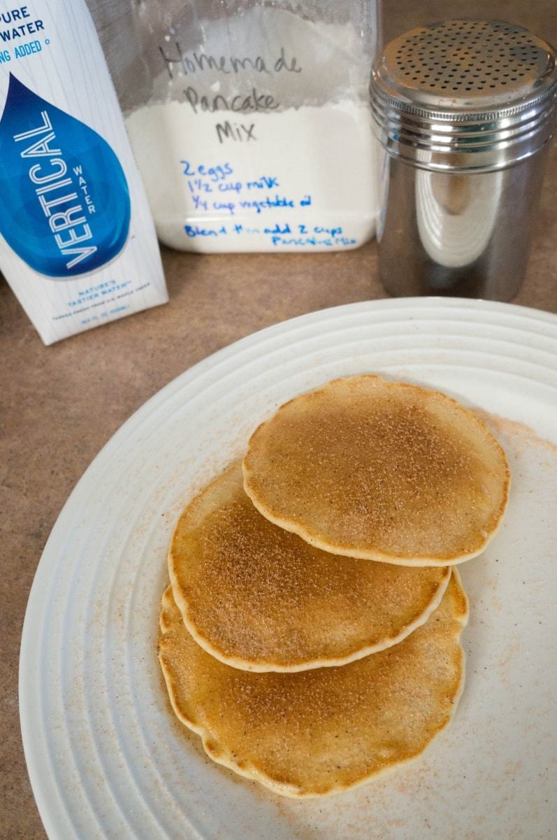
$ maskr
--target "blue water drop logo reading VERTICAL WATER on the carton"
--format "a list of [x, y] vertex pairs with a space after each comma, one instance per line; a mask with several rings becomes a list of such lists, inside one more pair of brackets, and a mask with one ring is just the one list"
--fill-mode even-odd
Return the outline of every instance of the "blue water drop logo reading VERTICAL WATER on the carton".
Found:
[[0, 234], [40, 274], [106, 265], [128, 239], [130, 197], [100, 134], [10, 74], [0, 120]]

